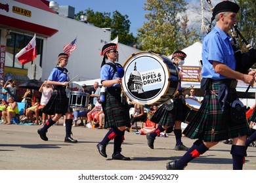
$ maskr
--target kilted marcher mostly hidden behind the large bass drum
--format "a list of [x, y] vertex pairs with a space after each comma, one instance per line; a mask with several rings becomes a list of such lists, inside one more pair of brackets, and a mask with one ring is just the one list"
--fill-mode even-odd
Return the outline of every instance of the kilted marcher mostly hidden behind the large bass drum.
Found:
[[[175, 65], [183, 65], [184, 59], [186, 58], [186, 54], [181, 50], [177, 50], [173, 53], [172, 61]], [[178, 68], [179, 69], [179, 68]], [[174, 134], [176, 139], [175, 150], [188, 150], [186, 146], [181, 141], [182, 130], [181, 130], [181, 122], [185, 120], [184, 115], [184, 97], [182, 95], [181, 86], [177, 91], [174, 99], [173, 99], [173, 108], [169, 108], [170, 105], [165, 104], [161, 105], [158, 110], [154, 113], [151, 118], [151, 121], [158, 124], [158, 127], [153, 133], [147, 133], [146, 139], [148, 140], [148, 146], [154, 149], [154, 140], [157, 136], [160, 135], [161, 132], [166, 129], [170, 129], [171, 131], [174, 126]]]

